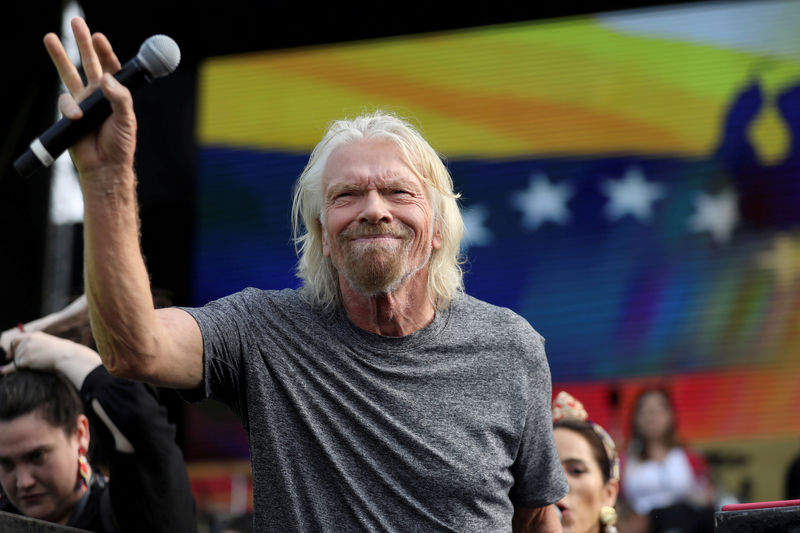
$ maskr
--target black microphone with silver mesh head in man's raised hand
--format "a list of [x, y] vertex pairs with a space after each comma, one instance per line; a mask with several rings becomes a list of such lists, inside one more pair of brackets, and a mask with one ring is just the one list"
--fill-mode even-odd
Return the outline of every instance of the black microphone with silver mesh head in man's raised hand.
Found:
[[[166, 35], [153, 35], [139, 48], [136, 57], [114, 74], [114, 78], [131, 92], [156, 78], [173, 72], [181, 60], [178, 45]], [[78, 104], [83, 117], [72, 120], [63, 117], [33, 140], [24, 154], [14, 161], [14, 168], [28, 177], [42, 167], [48, 167], [81, 137], [96, 129], [111, 114], [111, 104], [98, 88]]]

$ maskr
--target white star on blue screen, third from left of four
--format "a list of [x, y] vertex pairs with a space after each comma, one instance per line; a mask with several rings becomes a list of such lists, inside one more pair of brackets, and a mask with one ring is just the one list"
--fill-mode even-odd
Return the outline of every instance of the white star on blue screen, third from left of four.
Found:
[[635, 167], [629, 168], [622, 179], [604, 182], [602, 188], [609, 199], [605, 211], [611, 220], [625, 215], [641, 221], [650, 220], [653, 202], [664, 196], [664, 187], [647, 182], [644, 173]]

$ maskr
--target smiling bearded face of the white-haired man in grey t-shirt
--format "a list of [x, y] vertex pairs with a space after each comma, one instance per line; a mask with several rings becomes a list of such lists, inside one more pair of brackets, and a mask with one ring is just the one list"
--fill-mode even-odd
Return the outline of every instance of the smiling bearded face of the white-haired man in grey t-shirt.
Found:
[[322, 177], [323, 252], [356, 291], [389, 293], [426, 272], [441, 237], [428, 191], [389, 141], [335, 149]]

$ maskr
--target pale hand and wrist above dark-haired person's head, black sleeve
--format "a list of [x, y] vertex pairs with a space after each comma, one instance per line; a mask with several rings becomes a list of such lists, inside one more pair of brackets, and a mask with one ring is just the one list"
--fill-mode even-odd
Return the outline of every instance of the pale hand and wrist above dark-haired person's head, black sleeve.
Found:
[[42, 331], [20, 333], [11, 342], [12, 362], [0, 367], [9, 374], [19, 368], [61, 372], [80, 389], [86, 376], [100, 366], [100, 356], [83, 344], [54, 337]]

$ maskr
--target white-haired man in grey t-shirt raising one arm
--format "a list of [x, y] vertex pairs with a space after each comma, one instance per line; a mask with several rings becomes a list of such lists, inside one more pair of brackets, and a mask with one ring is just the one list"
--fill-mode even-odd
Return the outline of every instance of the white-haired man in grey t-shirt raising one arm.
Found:
[[[248, 432], [258, 531], [560, 531], [567, 491], [541, 337], [463, 293], [447, 170], [387, 115], [335, 123], [293, 205], [300, 290], [153, 309], [139, 251], [130, 93], [108, 40], [72, 23], [113, 113], [72, 148], [85, 203], [90, 317], [115, 374], [213, 397]], [[105, 73], [104, 73], [105, 72]]]

